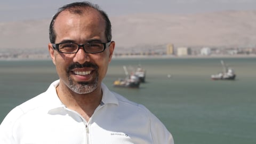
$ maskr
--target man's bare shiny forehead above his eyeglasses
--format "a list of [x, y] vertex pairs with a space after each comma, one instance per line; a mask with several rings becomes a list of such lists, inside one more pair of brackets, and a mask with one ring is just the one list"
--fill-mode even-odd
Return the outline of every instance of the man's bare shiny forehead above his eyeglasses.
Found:
[[59, 13], [54, 22], [54, 31], [58, 36], [76, 35], [81, 31], [86, 31], [83, 35], [96, 35], [104, 33], [106, 21], [99, 11], [92, 8], [79, 8], [64, 10]]

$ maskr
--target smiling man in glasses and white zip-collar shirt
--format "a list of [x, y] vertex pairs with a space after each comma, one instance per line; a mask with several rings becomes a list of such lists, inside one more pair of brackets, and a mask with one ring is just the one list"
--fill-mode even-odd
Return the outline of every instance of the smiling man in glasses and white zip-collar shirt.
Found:
[[173, 143], [148, 109], [102, 83], [115, 42], [97, 5], [61, 7], [50, 24], [50, 42], [60, 79], [5, 117], [0, 143]]

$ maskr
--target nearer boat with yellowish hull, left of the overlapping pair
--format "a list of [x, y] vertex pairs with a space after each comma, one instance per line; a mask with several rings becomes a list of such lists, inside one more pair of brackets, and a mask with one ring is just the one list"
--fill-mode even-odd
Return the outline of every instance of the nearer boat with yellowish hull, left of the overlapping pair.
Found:
[[124, 71], [125, 71], [126, 78], [125, 79], [118, 78], [114, 82], [113, 85], [115, 87], [139, 88], [139, 86], [140, 86], [140, 79], [139, 79], [139, 77], [134, 75], [134, 74], [129, 75], [126, 67], [123, 66], [123, 68], [124, 68]]

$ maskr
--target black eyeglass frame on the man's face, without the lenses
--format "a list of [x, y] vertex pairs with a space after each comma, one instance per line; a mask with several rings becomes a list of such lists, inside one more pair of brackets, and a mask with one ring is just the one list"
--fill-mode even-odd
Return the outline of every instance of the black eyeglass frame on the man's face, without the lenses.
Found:
[[109, 47], [109, 45], [111, 44], [111, 42], [112, 42], [112, 41], [107, 42], [107, 43], [100, 43], [100, 42], [92, 42], [92, 43], [85, 43], [85, 44], [69, 43], [69, 44], [77, 44], [78, 49], [77, 49], [76, 52], [61, 52], [61, 51], [59, 50], [59, 45], [60, 45], [60, 44], [68, 44], [67, 42], [66, 42], [66, 43], [58, 43], [58, 44], [53, 44], [53, 43], [52, 43], [52, 47], [53, 47], [54, 50], [57, 50], [57, 51], [60, 52], [60, 53], [72, 54], [72, 53], [77, 53], [77, 52], [79, 51], [79, 47], [83, 47], [84, 52], [86, 52], [84, 46], [87, 45], [87, 44], [103, 44], [103, 50], [102, 50], [102, 51], [99, 51], [99, 52], [86, 52], [86, 53], [100, 53], [100, 52], [105, 51], [105, 49], [106, 49], [107, 47]]

